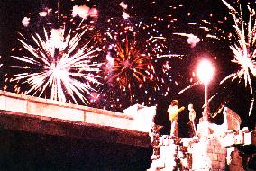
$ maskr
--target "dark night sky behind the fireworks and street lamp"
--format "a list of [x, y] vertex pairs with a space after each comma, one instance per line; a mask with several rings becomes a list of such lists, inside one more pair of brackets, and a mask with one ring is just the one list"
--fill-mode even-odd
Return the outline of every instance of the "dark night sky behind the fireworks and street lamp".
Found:
[[[120, 3], [127, 4], [127, 9], [124, 9]], [[231, 3], [231, 1], [227, 1]], [[251, 2], [251, 7], [255, 8], [255, 2], [251, 0], [242, 1], [242, 10], [245, 12], [245, 20], [247, 8], [245, 4]], [[96, 101], [87, 104], [88, 106], [104, 108], [111, 111], [122, 112], [123, 109], [135, 103], [144, 104], [146, 106], [157, 104], [156, 123], [167, 126], [168, 117], [167, 108], [172, 99], [178, 99], [180, 106], [185, 106], [193, 103], [197, 111], [197, 119], [201, 117], [202, 105], [204, 104], [204, 86], [195, 85], [182, 94], [178, 94], [181, 90], [193, 83], [196, 83], [197, 76], [193, 76], [198, 62], [202, 58], [208, 58], [215, 67], [215, 75], [213, 81], [209, 85], [209, 96], [213, 97], [210, 102], [211, 112], [215, 112], [221, 103], [230, 107], [234, 112], [237, 112], [242, 117], [242, 127], [249, 126], [251, 129], [255, 127], [255, 107], [248, 116], [251, 105], [251, 99], [255, 95], [255, 90], [251, 93], [249, 86], [244, 86], [244, 80], [241, 82], [236, 79], [233, 82], [231, 79], [224, 82], [223, 85], [219, 83], [225, 76], [236, 72], [240, 66], [231, 62], [233, 59], [233, 52], [229, 48], [230, 41], [221, 39], [206, 39], [206, 31], [199, 29], [199, 26], [208, 26], [214, 30], [212, 33], [216, 36], [222, 36], [232, 31], [233, 20], [228, 14], [227, 7], [221, 0], [177, 0], [177, 1], [160, 1], [160, 0], [132, 0], [132, 1], [116, 1], [116, 0], [60, 0], [59, 20], [57, 19], [58, 1], [57, 0], [1, 0], [0, 2], [0, 67], [1, 85], [0, 88], [6, 88], [6, 91], [14, 92], [14, 83], [5, 82], [5, 78], [10, 78], [14, 72], [19, 72], [10, 68], [11, 65], [17, 64], [12, 55], [22, 55], [25, 49], [19, 51], [21, 43], [18, 41], [18, 32], [29, 38], [30, 33], [38, 32], [42, 34], [42, 28], [46, 25], [51, 28], [58, 28], [60, 21], [64, 18], [72, 18], [71, 10], [74, 5], [86, 4], [90, 8], [96, 8], [98, 11], [97, 18], [87, 18], [84, 21], [91, 24], [96, 31], [101, 35], [112, 28], [115, 31], [120, 31], [120, 24], [133, 25], [138, 33], [138, 40], [147, 39], [150, 35], [148, 31], [141, 30], [141, 25], [149, 26], [149, 32], [152, 36], [161, 36], [165, 38], [160, 55], [178, 54], [180, 57], [163, 57], [156, 58], [155, 53], [152, 54], [151, 64], [156, 70], [155, 77], [152, 82], [145, 82], [142, 88], [134, 84], [132, 90], [123, 92], [118, 86], [111, 85], [103, 80], [104, 85], [96, 87], [95, 94], [100, 95]], [[39, 12], [45, 9], [52, 9], [52, 14], [47, 17], [40, 17]], [[123, 11], [130, 15], [128, 20], [122, 17]], [[23, 18], [29, 17], [31, 19], [29, 26], [24, 27], [22, 24]], [[225, 18], [226, 17], [226, 18]], [[107, 22], [111, 19], [111, 22]], [[66, 20], [66, 19], [65, 19]], [[211, 22], [211, 25], [206, 25], [202, 20]], [[78, 16], [74, 21], [79, 21]], [[50, 23], [50, 24], [49, 24]], [[69, 20], [66, 20], [69, 24]], [[189, 24], [189, 23], [197, 23]], [[67, 24], [67, 25], [68, 25]], [[118, 26], [116, 26], [118, 25]], [[69, 27], [72, 27], [69, 26]], [[218, 32], [219, 31], [219, 32]], [[191, 33], [201, 39], [200, 42], [193, 48], [187, 43], [187, 37], [178, 36], [173, 33]], [[222, 33], [224, 32], [224, 34]], [[89, 39], [94, 37], [89, 37]], [[30, 42], [30, 41], [29, 41]], [[105, 41], [106, 43], [112, 43]], [[145, 42], [146, 43], [146, 42]], [[103, 44], [97, 43], [99, 49], [103, 49]], [[153, 45], [152, 45], [153, 46]], [[151, 47], [151, 46], [150, 46]], [[13, 49], [13, 50], [12, 50]], [[141, 48], [142, 49], [142, 48]], [[255, 47], [254, 47], [255, 49]], [[151, 50], [152, 51], [152, 50]], [[105, 59], [107, 52], [103, 49], [99, 54], [99, 59]], [[164, 66], [168, 64], [169, 69], [163, 71]], [[168, 73], [168, 74], [167, 74]], [[6, 75], [7, 74], [7, 75]], [[193, 78], [192, 82], [190, 78]], [[158, 85], [159, 90], [155, 91], [153, 87]], [[251, 85], [255, 88], [255, 77], [251, 75]], [[26, 90], [28, 85], [18, 83], [22, 92]], [[131, 92], [134, 97], [131, 100]], [[166, 94], [166, 92], [168, 92]], [[130, 96], [129, 96], [130, 94]], [[151, 97], [151, 98], [149, 98]], [[255, 98], [255, 97], [254, 97]], [[150, 99], [150, 100], [149, 100]], [[219, 117], [219, 116], [218, 116]], [[215, 120], [217, 120], [215, 118]], [[188, 121], [188, 110], [186, 109], [179, 117], [179, 122], [182, 125], [180, 134], [187, 136], [186, 125]]]

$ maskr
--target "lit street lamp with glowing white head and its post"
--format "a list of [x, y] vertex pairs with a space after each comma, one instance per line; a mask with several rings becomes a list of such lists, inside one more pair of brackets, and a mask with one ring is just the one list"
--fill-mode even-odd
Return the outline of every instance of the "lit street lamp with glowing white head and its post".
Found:
[[214, 76], [214, 67], [208, 60], [204, 59], [199, 63], [197, 67], [197, 76], [199, 77], [199, 80], [205, 85], [205, 109], [203, 112], [203, 120], [208, 121], [209, 105], [207, 87]]

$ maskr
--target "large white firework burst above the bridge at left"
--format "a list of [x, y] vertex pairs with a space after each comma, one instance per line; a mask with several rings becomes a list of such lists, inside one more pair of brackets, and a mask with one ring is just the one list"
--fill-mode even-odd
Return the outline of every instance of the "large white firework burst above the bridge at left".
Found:
[[38, 33], [32, 35], [35, 46], [20, 39], [31, 57], [13, 56], [25, 65], [13, 66], [25, 70], [14, 75], [14, 81], [24, 80], [31, 86], [26, 94], [33, 92], [33, 95], [41, 96], [47, 94], [49, 87], [52, 100], [70, 102], [68, 94], [75, 103], [78, 103], [76, 97], [83, 103], [89, 103], [84, 94], [91, 95], [90, 92], [94, 91], [91, 84], [100, 84], [99, 76], [95, 74], [99, 72], [101, 64], [91, 62], [98, 49], [89, 46], [89, 42], [79, 44], [86, 31], [72, 36], [71, 31], [65, 35], [62, 29], [51, 30], [49, 38], [44, 29], [45, 40]]

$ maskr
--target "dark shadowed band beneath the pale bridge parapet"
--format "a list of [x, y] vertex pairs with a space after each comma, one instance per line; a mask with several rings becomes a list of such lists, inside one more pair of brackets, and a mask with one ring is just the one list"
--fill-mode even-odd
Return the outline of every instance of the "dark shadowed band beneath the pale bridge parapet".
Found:
[[77, 139], [149, 147], [148, 133], [0, 110], [0, 128]]

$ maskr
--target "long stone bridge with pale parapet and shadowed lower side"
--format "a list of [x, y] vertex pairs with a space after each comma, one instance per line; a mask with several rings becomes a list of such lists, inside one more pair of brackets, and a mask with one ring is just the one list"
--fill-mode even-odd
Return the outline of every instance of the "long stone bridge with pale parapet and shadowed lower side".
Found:
[[0, 91], [0, 128], [150, 147], [155, 106], [124, 113]]

